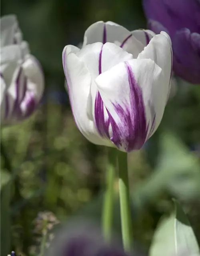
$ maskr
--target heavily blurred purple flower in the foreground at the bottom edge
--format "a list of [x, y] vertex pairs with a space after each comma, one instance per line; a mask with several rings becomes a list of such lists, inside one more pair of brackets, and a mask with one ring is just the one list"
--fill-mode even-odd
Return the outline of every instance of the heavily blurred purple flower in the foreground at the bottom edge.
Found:
[[[55, 235], [46, 256], [128, 256], [117, 243], [106, 244], [100, 228], [76, 221]], [[132, 255], [132, 254], [131, 254]], [[134, 254], [139, 256], [138, 254]]]

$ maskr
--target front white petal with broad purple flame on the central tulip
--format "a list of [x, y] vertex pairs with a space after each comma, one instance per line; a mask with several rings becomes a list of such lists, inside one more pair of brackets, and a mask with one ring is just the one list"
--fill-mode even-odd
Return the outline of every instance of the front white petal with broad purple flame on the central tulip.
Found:
[[[135, 59], [120, 63], [96, 78], [112, 126], [111, 140], [121, 150], [139, 149], [152, 135], [157, 113], [152, 109], [151, 97], [160, 81], [162, 70], [158, 65], [152, 60]], [[162, 90], [159, 92], [163, 94]]]

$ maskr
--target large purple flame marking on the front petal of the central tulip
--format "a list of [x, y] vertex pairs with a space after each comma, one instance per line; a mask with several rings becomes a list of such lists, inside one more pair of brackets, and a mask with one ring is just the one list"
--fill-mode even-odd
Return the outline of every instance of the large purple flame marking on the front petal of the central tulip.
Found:
[[130, 85], [130, 106], [125, 109], [119, 104], [113, 104], [120, 118], [117, 124], [108, 112], [112, 126], [112, 142], [118, 148], [124, 148], [126, 152], [140, 149], [146, 141], [148, 125], [146, 124], [146, 114], [142, 89], [138, 86], [130, 65], [125, 62]]

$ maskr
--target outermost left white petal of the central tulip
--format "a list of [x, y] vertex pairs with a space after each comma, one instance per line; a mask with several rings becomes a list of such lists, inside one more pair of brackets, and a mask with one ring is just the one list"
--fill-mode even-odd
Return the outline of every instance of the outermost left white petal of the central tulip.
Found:
[[94, 122], [88, 118], [87, 101], [90, 94], [91, 76], [86, 64], [76, 54], [70, 53], [67, 56], [63, 54], [63, 66], [72, 113], [78, 129], [94, 144], [108, 144], [109, 142], [102, 140]]

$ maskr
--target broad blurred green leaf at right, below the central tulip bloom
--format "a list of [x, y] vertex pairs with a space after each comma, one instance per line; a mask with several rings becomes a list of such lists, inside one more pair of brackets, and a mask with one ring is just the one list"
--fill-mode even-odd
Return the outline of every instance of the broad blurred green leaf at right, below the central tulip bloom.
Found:
[[164, 132], [160, 138], [160, 156], [155, 171], [132, 193], [132, 198], [135, 204], [144, 204], [164, 190], [180, 200], [200, 198], [199, 160], [170, 132]]

